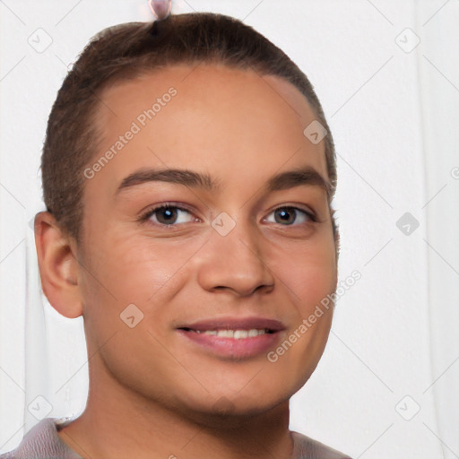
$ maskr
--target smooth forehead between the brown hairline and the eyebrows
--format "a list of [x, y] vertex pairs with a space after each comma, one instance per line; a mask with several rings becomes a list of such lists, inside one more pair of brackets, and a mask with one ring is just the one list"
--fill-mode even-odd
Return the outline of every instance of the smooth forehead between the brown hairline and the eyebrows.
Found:
[[100, 174], [109, 170], [113, 186], [143, 164], [205, 165], [216, 178], [240, 183], [283, 165], [308, 164], [327, 178], [324, 142], [313, 144], [303, 134], [314, 110], [281, 77], [225, 65], [174, 65], [118, 82], [100, 99], [99, 156], [137, 131]]

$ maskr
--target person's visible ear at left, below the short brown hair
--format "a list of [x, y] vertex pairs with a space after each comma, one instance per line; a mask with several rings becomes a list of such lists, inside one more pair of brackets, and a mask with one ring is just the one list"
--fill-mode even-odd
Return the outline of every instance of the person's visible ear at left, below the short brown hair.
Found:
[[35, 216], [35, 247], [41, 288], [51, 306], [65, 317], [82, 316], [76, 245], [73, 238], [60, 230], [49, 212]]

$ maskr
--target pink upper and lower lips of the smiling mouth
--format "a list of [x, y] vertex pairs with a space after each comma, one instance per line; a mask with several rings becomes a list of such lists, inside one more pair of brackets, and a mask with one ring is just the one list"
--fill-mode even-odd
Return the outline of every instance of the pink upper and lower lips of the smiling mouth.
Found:
[[[208, 330], [267, 329], [271, 333], [241, 339], [223, 338], [198, 333]], [[248, 359], [278, 345], [285, 326], [278, 320], [265, 317], [220, 317], [181, 325], [177, 331], [186, 342], [193, 342], [204, 351], [224, 359]]]

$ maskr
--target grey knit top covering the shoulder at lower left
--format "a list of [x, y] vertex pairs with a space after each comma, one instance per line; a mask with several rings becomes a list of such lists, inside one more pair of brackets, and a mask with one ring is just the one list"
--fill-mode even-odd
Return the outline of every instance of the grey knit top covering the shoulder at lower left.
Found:
[[66, 419], [45, 418], [33, 426], [13, 451], [0, 455], [0, 459], [82, 459], [57, 435], [57, 425]]

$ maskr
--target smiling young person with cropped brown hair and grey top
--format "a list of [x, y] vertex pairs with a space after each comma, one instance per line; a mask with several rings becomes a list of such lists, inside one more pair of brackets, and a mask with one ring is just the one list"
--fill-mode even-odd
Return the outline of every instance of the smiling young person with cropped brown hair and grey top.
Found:
[[42, 178], [42, 287], [84, 318], [89, 398], [2, 457], [347, 457], [289, 430], [339, 237], [332, 136], [279, 48], [212, 13], [104, 30], [57, 95]]

